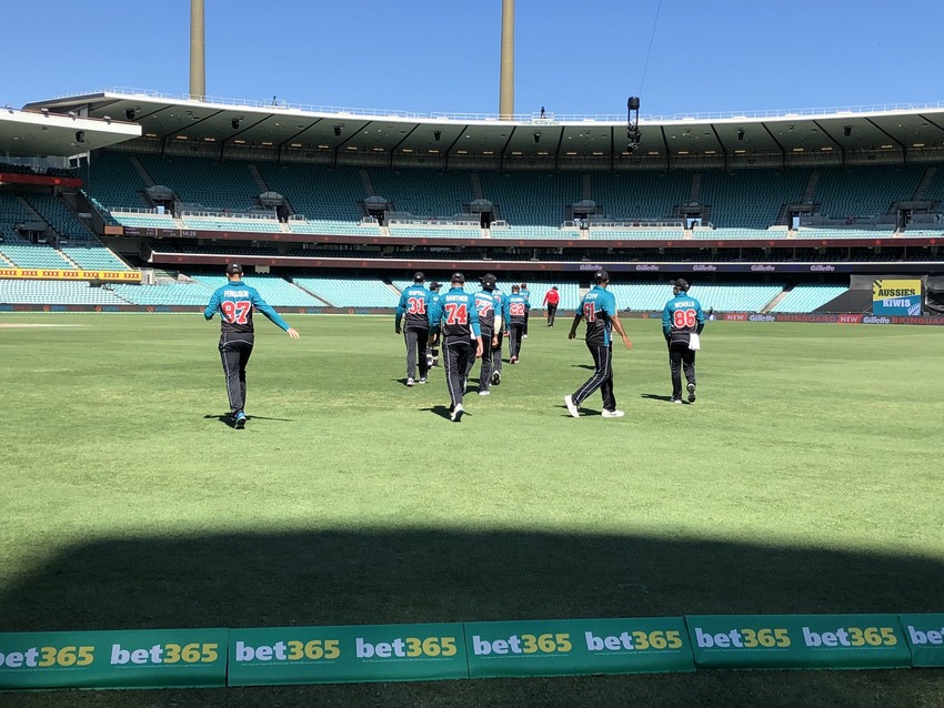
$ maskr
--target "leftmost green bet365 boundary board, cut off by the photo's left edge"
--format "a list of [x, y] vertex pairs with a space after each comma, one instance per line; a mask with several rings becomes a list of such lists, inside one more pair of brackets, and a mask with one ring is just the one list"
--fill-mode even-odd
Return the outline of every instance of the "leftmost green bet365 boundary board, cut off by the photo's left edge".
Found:
[[227, 685], [228, 629], [0, 634], [0, 688]]

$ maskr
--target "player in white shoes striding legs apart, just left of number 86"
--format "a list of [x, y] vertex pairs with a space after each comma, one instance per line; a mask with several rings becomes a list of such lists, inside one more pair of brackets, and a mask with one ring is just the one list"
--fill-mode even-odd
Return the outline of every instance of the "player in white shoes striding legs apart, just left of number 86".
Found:
[[610, 275], [606, 271], [597, 271], [594, 281], [596, 285], [583, 296], [568, 335], [569, 340], [573, 340], [580, 321], [586, 321], [586, 348], [593, 356], [593, 375], [573, 394], [564, 396], [564, 405], [568, 413], [579, 418], [580, 404], [600, 388], [603, 395], [603, 417], [621, 418], [625, 413], [616, 409], [616, 397], [613, 395], [613, 347], [610, 331], [616, 330], [627, 350], [632, 348], [633, 343], [616, 316], [616, 299], [606, 290]]

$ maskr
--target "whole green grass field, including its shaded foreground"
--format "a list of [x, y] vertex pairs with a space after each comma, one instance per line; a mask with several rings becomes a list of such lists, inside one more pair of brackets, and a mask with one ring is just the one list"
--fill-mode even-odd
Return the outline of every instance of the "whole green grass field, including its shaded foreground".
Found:
[[[944, 608], [944, 331], [711, 323], [673, 406], [624, 321], [622, 419], [562, 396], [569, 322], [443, 417], [392, 317], [259, 318], [245, 431], [219, 324], [8, 314], [0, 631]], [[944, 705], [944, 671], [0, 694], [2, 705]]]

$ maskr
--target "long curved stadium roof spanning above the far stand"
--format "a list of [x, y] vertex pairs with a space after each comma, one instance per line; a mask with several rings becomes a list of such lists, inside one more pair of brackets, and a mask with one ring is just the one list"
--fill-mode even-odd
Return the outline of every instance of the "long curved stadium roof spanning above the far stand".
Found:
[[[123, 89], [37, 101], [23, 110], [41, 109], [121, 118], [138, 123], [145, 140], [191, 144], [495, 159], [627, 156], [626, 119], [620, 115], [549, 113], [500, 121], [486, 114], [197, 101]], [[944, 103], [642, 117], [640, 128], [636, 158], [934, 150], [944, 146]]]

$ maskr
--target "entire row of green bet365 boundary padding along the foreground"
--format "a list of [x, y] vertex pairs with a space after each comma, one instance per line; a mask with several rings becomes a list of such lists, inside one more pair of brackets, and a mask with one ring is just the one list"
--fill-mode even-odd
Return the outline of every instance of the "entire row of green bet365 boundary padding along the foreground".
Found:
[[944, 667], [944, 614], [0, 634], [0, 690]]

